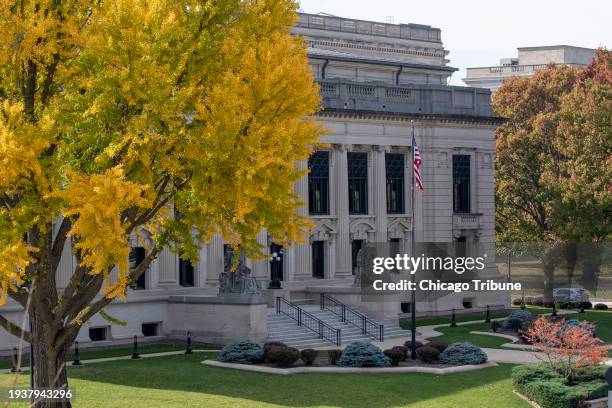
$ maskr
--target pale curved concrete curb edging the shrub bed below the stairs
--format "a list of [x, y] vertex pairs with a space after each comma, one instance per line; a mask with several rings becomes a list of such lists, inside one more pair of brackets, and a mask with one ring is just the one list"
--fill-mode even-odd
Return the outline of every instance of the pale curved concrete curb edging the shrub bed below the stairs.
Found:
[[386, 367], [386, 368], [356, 368], [356, 367], [294, 367], [294, 368], [275, 368], [256, 366], [248, 364], [234, 364], [234, 363], [222, 363], [216, 360], [204, 360], [201, 364], [221, 367], [221, 368], [233, 368], [242, 371], [252, 371], [257, 373], [266, 374], [277, 374], [277, 375], [291, 375], [291, 374], [305, 374], [305, 373], [350, 373], [350, 374], [396, 374], [396, 373], [425, 373], [425, 374], [453, 374], [462, 373], [466, 371], [480, 370], [483, 368], [497, 367], [497, 363], [489, 361], [479, 365], [465, 365], [458, 367], [449, 368], [430, 368], [430, 367]]

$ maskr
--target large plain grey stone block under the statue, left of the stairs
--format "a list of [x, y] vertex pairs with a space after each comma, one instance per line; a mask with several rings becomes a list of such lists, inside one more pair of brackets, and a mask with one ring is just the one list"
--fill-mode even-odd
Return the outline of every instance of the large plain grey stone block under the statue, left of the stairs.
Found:
[[235, 340], [265, 341], [268, 305], [260, 295], [170, 296], [171, 334], [194, 340], [227, 344]]

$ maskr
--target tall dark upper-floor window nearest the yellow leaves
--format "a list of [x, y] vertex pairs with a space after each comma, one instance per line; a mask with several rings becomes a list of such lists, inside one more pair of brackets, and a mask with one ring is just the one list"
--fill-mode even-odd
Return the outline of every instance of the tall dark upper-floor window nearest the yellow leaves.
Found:
[[329, 152], [310, 156], [308, 169], [308, 210], [312, 215], [329, 214]]

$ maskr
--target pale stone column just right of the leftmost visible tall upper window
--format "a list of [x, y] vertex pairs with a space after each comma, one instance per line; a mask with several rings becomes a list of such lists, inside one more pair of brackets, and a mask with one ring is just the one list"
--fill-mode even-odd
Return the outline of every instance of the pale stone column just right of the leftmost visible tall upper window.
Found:
[[349, 236], [348, 164], [347, 151], [350, 145], [335, 145], [335, 193], [338, 234], [336, 235], [336, 277], [351, 275], [351, 241]]

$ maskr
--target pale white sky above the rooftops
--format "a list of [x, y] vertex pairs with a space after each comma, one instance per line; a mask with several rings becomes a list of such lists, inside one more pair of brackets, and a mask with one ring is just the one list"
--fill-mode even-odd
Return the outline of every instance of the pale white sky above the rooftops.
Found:
[[451, 84], [465, 85], [466, 67], [498, 65], [517, 47], [612, 48], [612, 1], [606, 0], [300, 0], [300, 10], [340, 17], [416, 23], [442, 30]]

